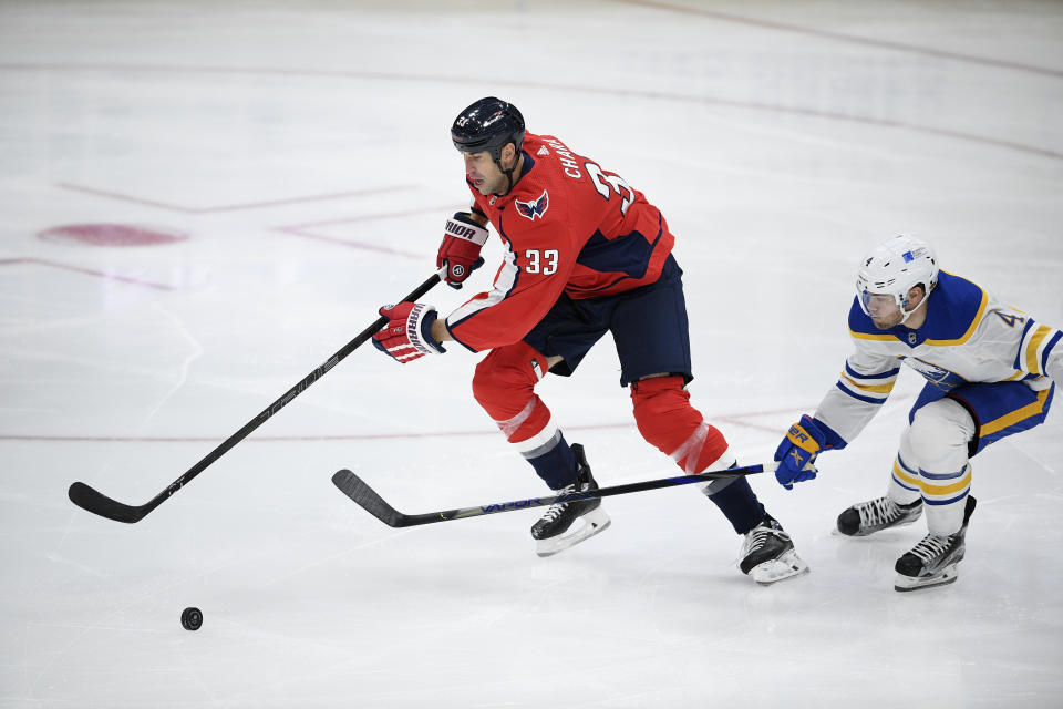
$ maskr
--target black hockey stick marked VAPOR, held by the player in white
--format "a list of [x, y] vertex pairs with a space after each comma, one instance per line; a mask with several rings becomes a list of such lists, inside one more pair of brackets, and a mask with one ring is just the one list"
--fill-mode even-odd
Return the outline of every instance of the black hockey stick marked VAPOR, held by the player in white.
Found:
[[528, 497], [527, 500], [515, 500], [514, 502], [498, 502], [489, 505], [481, 505], [478, 507], [461, 507], [458, 510], [443, 510], [440, 512], [429, 512], [425, 514], [403, 514], [399, 512], [388, 504], [383, 497], [376, 494], [375, 490], [367, 485], [361, 477], [349, 470], [341, 470], [332, 475], [332, 484], [339, 487], [340, 492], [357, 502], [367, 512], [388, 526], [412, 527], [419, 524], [451, 522], [452, 520], [478, 517], [481, 515], [496, 514], [498, 512], [513, 512], [515, 510], [528, 510], [530, 507], [547, 507], [557, 502], [576, 502], [578, 500], [610, 497], [612, 495], [626, 495], [628, 493], [642, 492], [644, 490], [674, 487], [677, 485], [689, 485], [690, 483], [703, 483], [712, 480], [737, 477], [740, 475], [752, 475], [754, 473], [773, 471], [777, 466], [778, 463], [757, 463], [756, 465], [730, 467], [727, 470], [701, 473], [699, 475], [661, 477], [659, 480], [647, 480], [640, 483], [627, 483], [623, 485], [613, 485], [611, 487], [599, 487], [598, 490], [588, 490], [586, 492], [551, 495], [549, 497]]

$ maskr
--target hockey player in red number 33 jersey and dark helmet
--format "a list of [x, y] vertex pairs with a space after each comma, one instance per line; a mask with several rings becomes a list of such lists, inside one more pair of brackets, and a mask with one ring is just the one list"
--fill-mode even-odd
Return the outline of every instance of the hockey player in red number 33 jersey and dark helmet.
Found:
[[[535, 386], [547, 372], [571, 374], [608, 331], [642, 436], [687, 474], [735, 465], [723, 434], [691, 407], [685, 390], [693, 374], [682, 270], [660, 210], [559, 138], [527, 133], [516, 106], [498, 99], [462, 111], [451, 137], [473, 204], [447, 220], [436, 266], [461, 288], [483, 263], [488, 224], [502, 240], [503, 263], [492, 290], [445, 319], [424, 304], [381, 308], [390, 322], [374, 336], [376, 348], [400, 362], [442, 353], [448, 341], [489, 350], [473, 378], [476, 401], [547, 485], [571, 492], [597, 483], [582, 446], [566, 441]], [[744, 536], [743, 573], [768, 584], [807, 571], [745, 477], [702, 490]], [[548, 556], [608, 525], [600, 499], [560, 502], [532, 536]]]

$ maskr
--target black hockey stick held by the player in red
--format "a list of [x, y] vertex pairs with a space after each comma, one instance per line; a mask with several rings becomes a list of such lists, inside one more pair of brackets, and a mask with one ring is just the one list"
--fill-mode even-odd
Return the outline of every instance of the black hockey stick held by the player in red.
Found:
[[[420, 299], [421, 296], [429, 292], [437, 282], [440, 282], [443, 273], [444, 271], [441, 270], [440, 273], [433, 274], [431, 278], [417, 286], [413, 292], [403, 298], [403, 301]], [[373, 321], [372, 325], [362, 330], [358, 337], [344, 345], [336, 354], [327, 359], [323, 364], [307, 374], [298, 384], [289, 389], [280, 399], [269, 404], [261, 413], [248, 421], [242, 429], [226, 439], [225, 442], [218, 445], [218, 448], [207, 453], [202, 461], [193, 465], [187, 472], [185, 472], [184, 475], [171, 483], [169, 487], [158, 493], [143, 505], [123, 504], [116, 500], [107, 497], [103, 493], [82, 482], [75, 482], [70, 486], [70, 490], [66, 493], [70, 496], [70, 501], [82, 510], [97, 514], [101, 517], [106, 517], [107, 520], [125, 522], [128, 524], [140, 522], [155, 507], [168, 500], [171, 495], [192, 482], [193, 479], [206, 470], [208, 465], [225, 455], [229, 449], [246, 439], [251, 431], [265, 423], [267, 419], [288, 405], [292, 399], [301, 394], [310, 384], [321, 379], [326, 372], [336, 367], [348, 354], [361, 347], [385, 325], [388, 325], [388, 318], [383, 316], [379, 317]]]

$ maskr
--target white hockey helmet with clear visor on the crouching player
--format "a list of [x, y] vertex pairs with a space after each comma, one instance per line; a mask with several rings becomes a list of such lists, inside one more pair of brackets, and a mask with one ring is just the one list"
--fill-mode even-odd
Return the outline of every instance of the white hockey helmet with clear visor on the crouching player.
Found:
[[[892, 296], [894, 302], [904, 311], [901, 322], [917, 308], [908, 310], [908, 291], [922, 286], [929, 296], [938, 285], [938, 259], [933, 249], [922, 239], [900, 234], [873, 248], [856, 276], [856, 295], [864, 312], [871, 315], [868, 302], [871, 296]], [[922, 299], [921, 306], [928, 300]]]

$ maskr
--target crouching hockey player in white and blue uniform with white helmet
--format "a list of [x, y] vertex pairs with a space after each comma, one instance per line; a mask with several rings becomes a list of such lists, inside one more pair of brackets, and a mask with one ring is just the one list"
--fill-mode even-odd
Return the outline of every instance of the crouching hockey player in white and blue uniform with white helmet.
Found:
[[949, 584], [976, 505], [970, 459], [1044, 421], [1054, 381], [1063, 381], [1063, 333], [939, 270], [930, 246], [911, 236], [875, 247], [860, 263], [856, 290], [856, 350], [815, 413], [791, 427], [775, 452], [775, 476], [787, 490], [815, 477], [816, 455], [845, 448], [889, 397], [901, 364], [915, 369], [927, 383], [886, 495], [845, 510], [838, 531], [864, 536], [926, 512], [929, 534], [897, 559], [894, 587]]

